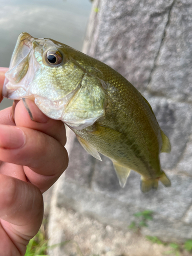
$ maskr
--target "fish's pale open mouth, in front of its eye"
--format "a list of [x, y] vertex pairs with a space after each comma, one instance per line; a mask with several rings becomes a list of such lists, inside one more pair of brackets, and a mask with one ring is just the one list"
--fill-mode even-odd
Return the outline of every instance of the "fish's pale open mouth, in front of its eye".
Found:
[[[3, 97], [14, 99], [25, 97], [28, 84], [31, 81], [31, 74], [37, 65], [31, 63], [30, 58], [33, 54], [33, 38], [28, 33], [21, 33], [17, 39], [14, 52], [12, 54], [9, 71], [5, 74], [3, 87]], [[30, 73], [30, 74], [29, 74]]]

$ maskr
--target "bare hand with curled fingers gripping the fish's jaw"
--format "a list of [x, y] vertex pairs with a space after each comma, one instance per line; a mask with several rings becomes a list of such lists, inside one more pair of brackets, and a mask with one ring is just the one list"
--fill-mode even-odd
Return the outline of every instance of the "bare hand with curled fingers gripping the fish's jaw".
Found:
[[[7, 68], [0, 68], [0, 102]], [[25, 254], [42, 222], [44, 193], [68, 166], [61, 121], [26, 99], [0, 111], [0, 256]]]

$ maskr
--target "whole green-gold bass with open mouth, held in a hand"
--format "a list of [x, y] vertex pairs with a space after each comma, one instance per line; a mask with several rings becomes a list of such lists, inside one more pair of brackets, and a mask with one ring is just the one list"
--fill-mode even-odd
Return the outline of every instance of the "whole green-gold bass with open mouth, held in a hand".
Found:
[[124, 187], [131, 170], [143, 193], [170, 181], [159, 154], [169, 153], [150, 103], [101, 61], [49, 38], [18, 36], [3, 96], [28, 98], [48, 117], [62, 120], [89, 154], [109, 157]]

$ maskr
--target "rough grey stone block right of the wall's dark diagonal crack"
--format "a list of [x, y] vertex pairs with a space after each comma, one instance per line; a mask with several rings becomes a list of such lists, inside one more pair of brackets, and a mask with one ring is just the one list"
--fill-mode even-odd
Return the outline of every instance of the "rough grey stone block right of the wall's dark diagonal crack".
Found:
[[[179, 101], [192, 99], [192, 3], [175, 0], [148, 89]], [[162, 75], [163, 74], [163, 75]]]

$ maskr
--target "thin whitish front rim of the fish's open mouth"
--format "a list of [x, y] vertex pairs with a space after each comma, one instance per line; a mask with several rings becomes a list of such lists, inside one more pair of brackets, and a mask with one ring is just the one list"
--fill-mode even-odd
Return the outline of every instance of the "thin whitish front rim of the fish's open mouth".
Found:
[[5, 98], [14, 98], [13, 94], [18, 89], [17, 86], [13, 90], [7, 88], [7, 84], [11, 81], [11, 71], [21, 62], [27, 55], [29, 55], [33, 49], [33, 41], [36, 38], [30, 34], [23, 32], [18, 36], [15, 49], [13, 51], [9, 70], [5, 73], [5, 81], [2, 91], [2, 96]]

